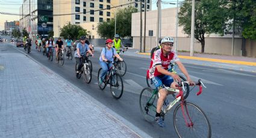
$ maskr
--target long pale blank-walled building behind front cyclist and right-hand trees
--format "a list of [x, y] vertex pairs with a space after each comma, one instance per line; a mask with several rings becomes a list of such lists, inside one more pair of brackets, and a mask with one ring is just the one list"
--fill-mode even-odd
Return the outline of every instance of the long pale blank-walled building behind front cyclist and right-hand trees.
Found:
[[[144, 16], [142, 19], [144, 23]], [[144, 25], [142, 26], [144, 34]], [[157, 10], [147, 12], [146, 16], [146, 50], [157, 46], [156, 43], [157, 29]], [[153, 36], [149, 37], [149, 30], [153, 31]], [[140, 13], [132, 15], [133, 47], [140, 49]], [[176, 39], [176, 8], [166, 8], [161, 10], [161, 38], [170, 36]], [[143, 38], [142, 38], [143, 41]], [[235, 35], [234, 56], [242, 56], [242, 38]], [[174, 47], [173, 47], [174, 48]], [[190, 51], [190, 37], [183, 33], [183, 28], [178, 28], [177, 50]], [[201, 52], [201, 43], [196, 39], [194, 50]], [[223, 55], [232, 55], [232, 35], [205, 35], [205, 53], [217, 53]], [[256, 41], [246, 40], [246, 56], [256, 57]]]

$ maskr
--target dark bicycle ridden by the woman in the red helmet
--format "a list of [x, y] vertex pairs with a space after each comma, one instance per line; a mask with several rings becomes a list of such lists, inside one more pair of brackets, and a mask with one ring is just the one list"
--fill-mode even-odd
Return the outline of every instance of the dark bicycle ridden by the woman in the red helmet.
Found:
[[117, 73], [116, 67], [114, 67], [113, 61], [107, 61], [108, 63], [112, 63], [112, 67], [108, 69], [107, 75], [103, 79], [102, 83], [99, 83], [99, 76], [101, 76], [102, 68], [99, 68], [98, 71], [98, 85], [101, 90], [105, 89], [107, 84], [110, 85], [110, 92], [114, 98], [119, 99], [123, 94], [123, 80], [120, 74]]

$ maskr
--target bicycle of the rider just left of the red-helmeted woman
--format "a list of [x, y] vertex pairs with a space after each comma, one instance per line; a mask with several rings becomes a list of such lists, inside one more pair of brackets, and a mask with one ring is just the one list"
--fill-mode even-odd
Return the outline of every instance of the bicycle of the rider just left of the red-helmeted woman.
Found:
[[84, 80], [86, 81], [86, 83], [90, 83], [92, 80], [92, 70], [90, 69], [92, 61], [90, 61], [90, 59], [88, 59], [86, 56], [82, 56], [81, 59], [83, 66], [81, 67], [79, 73], [76, 74], [76, 77], [80, 79], [82, 74], [84, 74]]

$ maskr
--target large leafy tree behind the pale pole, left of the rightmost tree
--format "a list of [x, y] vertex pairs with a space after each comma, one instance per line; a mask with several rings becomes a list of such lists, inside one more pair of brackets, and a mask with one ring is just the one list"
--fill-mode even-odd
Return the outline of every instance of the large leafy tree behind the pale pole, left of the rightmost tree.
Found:
[[[195, 38], [201, 43], [204, 53], [205, 34], [224, 35], [228, 22], [228, 2], [225, 0], [201, 0], [195, 4]], [[185, 0], [178, 13], [179, 26], [186, 34], [191, 33], [192, 3]]]

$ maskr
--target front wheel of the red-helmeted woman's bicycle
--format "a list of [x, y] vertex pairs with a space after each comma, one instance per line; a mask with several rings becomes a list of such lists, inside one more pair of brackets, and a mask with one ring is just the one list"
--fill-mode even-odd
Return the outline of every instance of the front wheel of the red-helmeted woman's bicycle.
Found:
[[122, 97], [123, 80], [119, 74], [113, 74], [113, 76], [110, 77], [110, 91], [114, 98], [119, 99]]

